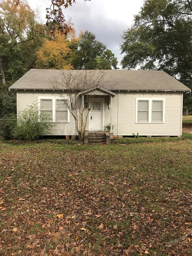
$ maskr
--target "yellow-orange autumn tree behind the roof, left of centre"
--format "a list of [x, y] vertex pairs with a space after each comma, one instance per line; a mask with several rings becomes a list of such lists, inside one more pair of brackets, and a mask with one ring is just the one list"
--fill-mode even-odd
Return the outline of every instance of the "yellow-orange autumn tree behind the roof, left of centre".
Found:
[[72, 69], [69, 45], [70, 42], [64, 34], [55, 33], [54, 38], [46, 40], [37, 51], [36, 68]]

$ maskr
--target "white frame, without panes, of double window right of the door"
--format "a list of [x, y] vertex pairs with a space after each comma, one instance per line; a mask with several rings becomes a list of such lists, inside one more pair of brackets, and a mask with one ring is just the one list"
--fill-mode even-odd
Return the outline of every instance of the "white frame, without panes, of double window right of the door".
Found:
[[[139, 100], [148, 100], [149, 101], [149, 116], [148, 122], [137, 122], [137, 109], [138, 109], [138, 101]], [[152, 101], [163, 101], [163, 121], [162, 122], [152, 122]], [[136, 124], [164, 124], [165, 123], [165, 98], [136, 98], [135, 101], [135, 123]]]

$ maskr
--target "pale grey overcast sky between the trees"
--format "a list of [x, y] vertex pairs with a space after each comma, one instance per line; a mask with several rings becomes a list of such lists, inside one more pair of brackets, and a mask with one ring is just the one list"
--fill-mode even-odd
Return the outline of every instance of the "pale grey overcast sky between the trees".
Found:
[[[41, 10], [42, 20], [46, 21], [45, 8], [50, 0], [28, 0], [30, 6]], [[143, 0], [76, 0], [71, 7], [64, 9], [65, 17], [71, 17], [75, 30], [93, 32], [97, 39], [106, 44], [118, 58], [118, 66], [122, 55], [120, 53], [121, 35], [123, 30], [133, 24], [134, 15], [142, 6]]]

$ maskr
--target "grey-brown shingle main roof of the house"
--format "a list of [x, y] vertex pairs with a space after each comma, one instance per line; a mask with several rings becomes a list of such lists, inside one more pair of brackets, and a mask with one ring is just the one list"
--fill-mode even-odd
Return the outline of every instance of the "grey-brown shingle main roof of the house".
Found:
[[[84, 70], [64, 70], [66, 74], [85, 72]], [[190, 90], [164, 71], [157, 70], [96, 70], [95, 76], [104, 73], [100, 86], [108, 90]], [[30, 69], [9, 89], [54, 89], [52, 81], [62, 82], [61, 70]], [[64, 85], [60, 89], [65, 89]]]

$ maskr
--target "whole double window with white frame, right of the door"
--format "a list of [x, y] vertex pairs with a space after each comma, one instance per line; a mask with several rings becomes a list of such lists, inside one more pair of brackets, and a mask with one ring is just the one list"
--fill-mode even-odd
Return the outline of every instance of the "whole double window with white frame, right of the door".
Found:
[[164, 123], [164, 98], [137, 98], [136, 123]]

